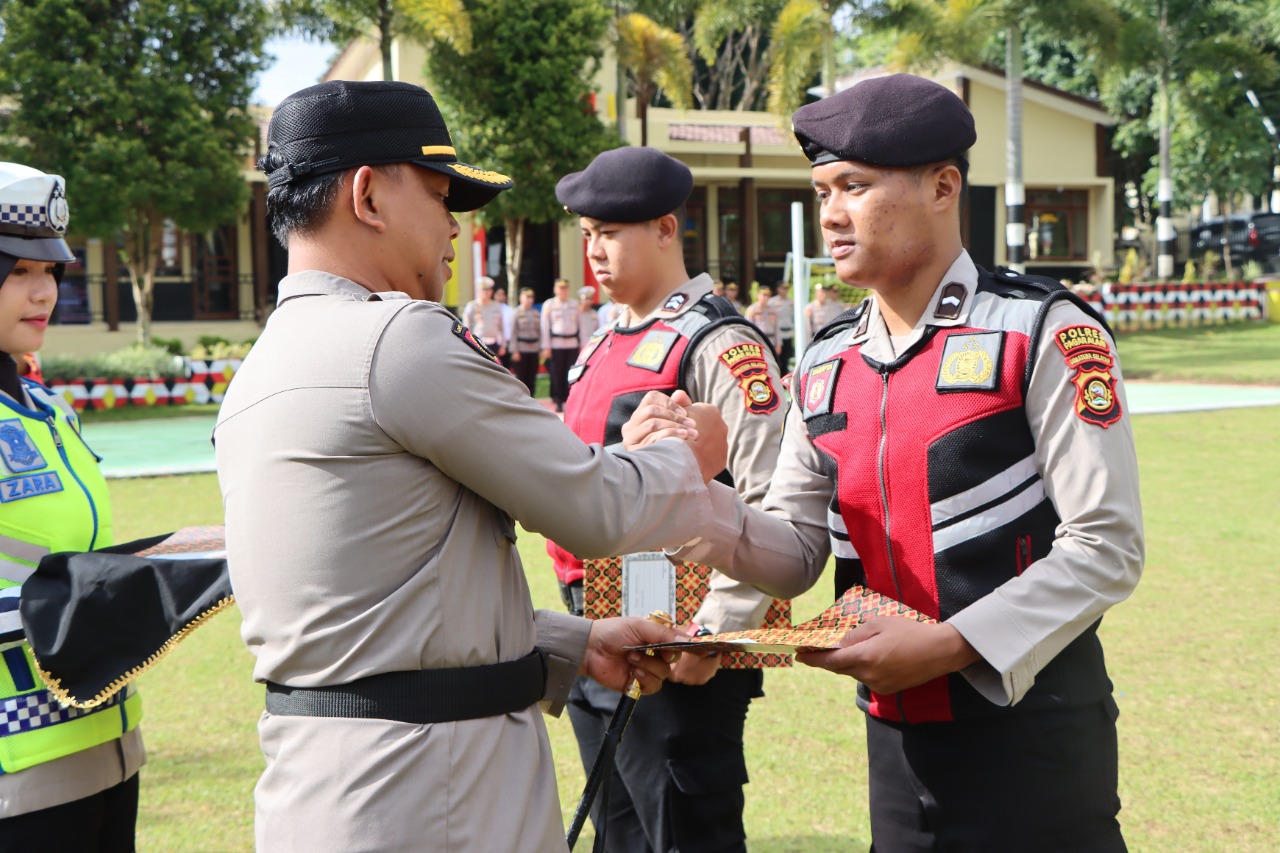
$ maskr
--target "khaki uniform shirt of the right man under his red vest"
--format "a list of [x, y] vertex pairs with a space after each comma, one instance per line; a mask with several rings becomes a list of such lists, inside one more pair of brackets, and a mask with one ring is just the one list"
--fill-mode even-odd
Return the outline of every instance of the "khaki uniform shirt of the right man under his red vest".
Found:
[[[938, 319], [934, 306], [950, 282], [965, 286], [961, 313], [955, 319]], [[977, 268], [961, 252], [899, 351], [914, 343], [928, 325], [965, 325], [977, 284]], [[864, 343], [863, 352], [870, 357], [892, 361], [895, 350], [874, 300], [869, 314], [865, 330], [859, 324], [840, 334], [849, 346]], [[1107, 608], [1126, 598], [1142, 574], [1138, 461], [1120, 365], [1112, 368], [1112, 374], [1125, 414], [1103, 429], [1076, 415], [1073, 371], [1055, 343], [1057, 330], [1082, 323], [1097, 325], [1070, 302], [1050, 309], [1027, 391], [1036, 467], [1061, 519], [1053, 547], [1033, 571], [1006, 581], [948, 620], [983, 657], [964, 670], [965, 678], [996, 704], [1021, 699], [1036, 674]], [[1110, 337], [1107, 341], [1115, 353], [1115, 342]], [[710, 487], [716, 528], [677, 556], [708, 562], [778, 596], [796, 596], [813, 587], [831, 552], [827, 514], [832, 482], [799, 406], [787, 414], [778, 470], [763, 511], [744, 506], [718, 483]]]

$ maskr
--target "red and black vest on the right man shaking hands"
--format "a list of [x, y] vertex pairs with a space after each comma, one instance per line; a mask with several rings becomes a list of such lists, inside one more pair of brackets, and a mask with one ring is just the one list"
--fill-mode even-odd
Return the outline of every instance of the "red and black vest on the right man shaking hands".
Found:
[[[890, 364], [844, 343], [865, 329], [867, 302], [805, 352], [792, 388], [833, 482], [837, 597], [863, 584], [946, 620], [1036, 571], [1053, 544], [1059, 516], [1037, 469], [1027, 387], [1048, 307], [1065, 298], [1094, 315], [1051, 279], [998, 273], [979, 269], [966, 325], [928, 327]], [[1096, 622], [1012, 708], [959, 672], [896, 694], [859, 685], [859, 707], [929, 722], [1071, 707], [1110, 692]]]

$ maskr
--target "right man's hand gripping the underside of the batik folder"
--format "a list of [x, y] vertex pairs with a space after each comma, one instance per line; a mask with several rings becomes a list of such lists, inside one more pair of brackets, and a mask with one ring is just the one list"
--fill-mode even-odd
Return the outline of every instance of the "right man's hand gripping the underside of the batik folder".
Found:
[[877, 693], [897, 693], [979, 660], [978, 652], [946, 622], [876, 616], [854, 628], [829, 652], [804, 652], [796, 660], [858, 679]]

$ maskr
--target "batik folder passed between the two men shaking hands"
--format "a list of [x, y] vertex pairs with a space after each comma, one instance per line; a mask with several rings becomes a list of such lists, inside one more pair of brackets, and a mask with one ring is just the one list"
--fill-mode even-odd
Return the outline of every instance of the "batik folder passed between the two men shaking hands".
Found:
[[814, 619], [795, 628], [758, 628], [749, 631], [726, 631], [710, 637], [695, 637], [678, 643], [658, 643], [636, 648], [675, 648], [689, 651], [691, 647], [709, 647], [730, 651], [749, 651], [785, 654], [790, 652], [812, 652], [840, 648], [840, 640], [851, 628], [858, 628], [873, 616], [905, 616], [918, 622], [937, 621], [888, 596], [872, 592], [865, 587], [851, 587], [840, 599], [822, 611]]

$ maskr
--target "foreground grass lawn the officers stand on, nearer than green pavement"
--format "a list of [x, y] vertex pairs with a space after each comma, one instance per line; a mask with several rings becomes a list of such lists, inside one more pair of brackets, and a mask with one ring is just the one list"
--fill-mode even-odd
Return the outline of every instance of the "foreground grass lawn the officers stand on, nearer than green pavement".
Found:
[[[1121, 708], [1129, 845], [1270, 853], [1280, 849], [1280, 410], [1148, 415], [1134, 426], [1147, 570], [1102, 626]], [[114, 480], [111, 493], [122, 540], [221, 517], [211, 475]], [[520, 548], [535, 603], [557, 607], [541, 538], [524, 534]], [[823, 579], [797, 601], [797, 617], [828, 599]], [[234, 610], [219, 616], [142, 679], [151, 760], [140, 850], [252, 847], [262, 699], [238, 628]], [[751, 849], [867, 849], [854, 684], [797, 667], [771, 672], [765, 690], [748, 722]], [[584, 774], [568, 720], [548, 727], [567, 821]]]

